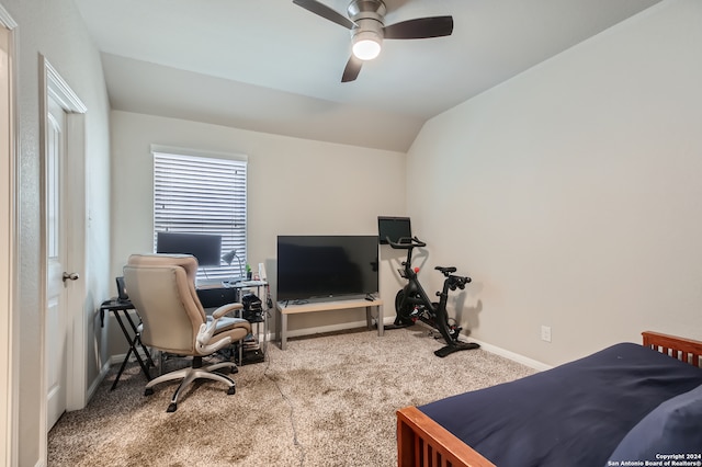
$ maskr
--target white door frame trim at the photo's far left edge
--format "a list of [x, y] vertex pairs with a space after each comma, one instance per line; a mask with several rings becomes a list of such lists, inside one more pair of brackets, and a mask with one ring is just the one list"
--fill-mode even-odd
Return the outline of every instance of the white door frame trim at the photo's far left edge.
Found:
[[[18, 251], [18, 200], [16, 178], [19, 153], [19, 138], [16, 135], [16, 27], [12, 16], [0, 4], [0, 26], [8, 30], [7, 47], [7, 88], [0, 92], [8, 93], [8, 105], [2, 112], [3, 124], [0, 132], [8, 136], [7, 146], [0, 150], [0, 182], [5, 189], [0, 193], [0, 213], [4, 226], [0, 232], [0, 342], [4, 346], [0, 351], [0, 464], [16, 465], [19, 451], [19, 375], [16, 349], [19, 340], [14, 297], [16, 297], [16, 251]], [[4, 157], [7, 156], [7, 160]], [[4, 221], [7, 219], [7, 223]], [[4, 252], [7, 251], [7, 254]], [[14, 339], [13, 339], [14, 338]]]

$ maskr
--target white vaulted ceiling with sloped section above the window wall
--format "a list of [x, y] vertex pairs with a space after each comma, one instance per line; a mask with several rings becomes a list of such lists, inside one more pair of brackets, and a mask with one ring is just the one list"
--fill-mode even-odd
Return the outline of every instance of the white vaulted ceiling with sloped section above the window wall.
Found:
[[75, 1], [115, 110], [406, 151], [432, 116], [660, 0], [385, 0], [386, 25], [452, 15], [453, 34], [386, 39], [347, 83], [349, 31], [292, 0]]

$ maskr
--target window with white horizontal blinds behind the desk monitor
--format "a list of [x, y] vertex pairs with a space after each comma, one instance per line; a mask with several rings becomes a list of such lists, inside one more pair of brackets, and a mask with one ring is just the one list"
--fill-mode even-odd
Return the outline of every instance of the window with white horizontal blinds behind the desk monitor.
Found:
[[200, 267], [199, 281], [239, 277], [246, 266], [247, 160], [152, 147], [154, 251], [158, 232], [222, 236], [220, 266]]

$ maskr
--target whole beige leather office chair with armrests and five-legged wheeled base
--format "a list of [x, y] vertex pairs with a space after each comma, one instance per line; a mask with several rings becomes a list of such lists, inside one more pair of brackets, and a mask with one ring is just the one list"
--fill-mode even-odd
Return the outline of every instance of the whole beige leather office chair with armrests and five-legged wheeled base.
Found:
[[217, 369], [229, 368], [233, 362], [203, 366], [203, 356], [242, 340], [251, 332], [245, 319], [228, 318], [226, 314], [240, 310], [241, 304], [217, 308], [211, 318], [205, 315], [195, 292], [197, 260], [189, 254], [133, 254], [124, 266], [124, 281], [134, 308], [143, 322], [141, 342], [168, 354], [192, 356], [192, 366], [151, 379], [144, 391], [154, 394], [154, 386], [182, 379], [171, 398], [167, 412], [178, 408], [180, 394], [195, 379], [207, 378], [229, 386], [227, 394], [236, 392], [235, 383]]

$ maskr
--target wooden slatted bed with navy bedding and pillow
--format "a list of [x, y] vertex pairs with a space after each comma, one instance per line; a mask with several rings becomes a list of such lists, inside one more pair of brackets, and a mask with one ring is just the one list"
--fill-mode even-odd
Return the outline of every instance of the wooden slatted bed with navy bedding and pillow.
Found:
[[398, 465], [699, 466], [701, 425], [702, 342], [647, 331], [643, 345], [398, 410]]

